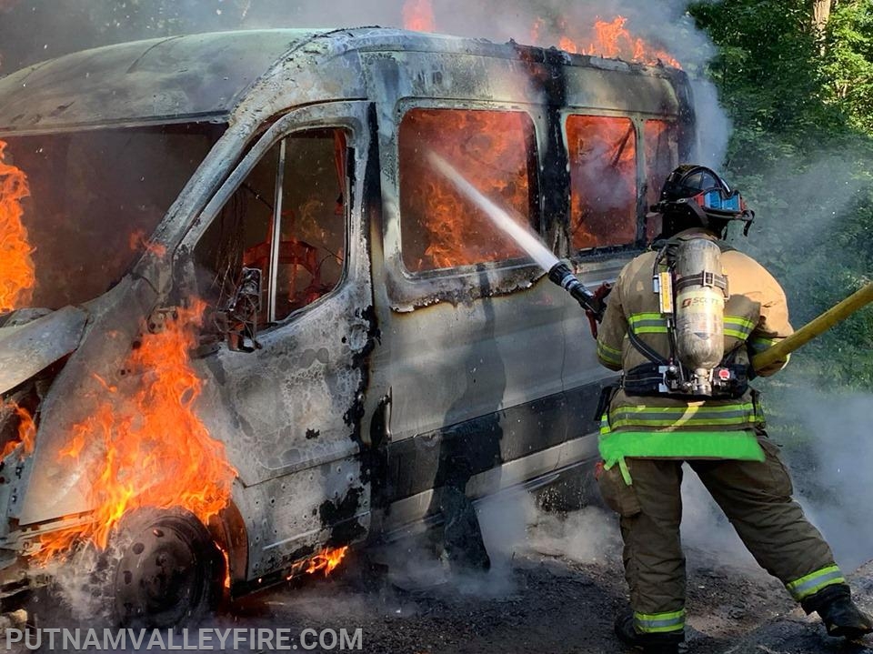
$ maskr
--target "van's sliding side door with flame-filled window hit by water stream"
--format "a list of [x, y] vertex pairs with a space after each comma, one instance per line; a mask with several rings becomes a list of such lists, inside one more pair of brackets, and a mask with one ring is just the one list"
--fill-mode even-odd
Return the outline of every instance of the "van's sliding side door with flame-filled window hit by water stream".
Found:
[[428, 159], [436, 152], [537, 230], [542, 114], [423, 100], [393, 113], [398, 129], [381, 144], [389, 528], [547, 473], [566, 435], [564, 291]]

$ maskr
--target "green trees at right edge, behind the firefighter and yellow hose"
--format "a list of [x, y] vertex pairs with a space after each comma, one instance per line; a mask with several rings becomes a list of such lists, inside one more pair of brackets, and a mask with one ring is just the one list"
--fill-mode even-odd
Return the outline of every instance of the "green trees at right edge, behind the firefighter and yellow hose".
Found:
[[[724, 0], [689, 13], [734, 123], [725, 174], [758, 213], [738, 244], [783, 283], [799, 326], [873, 279], [873, 0]], [[873, 308], [796, 353], [800, 378], [873, 387]], [[793, 368], [793, 370], [792, 370]]]

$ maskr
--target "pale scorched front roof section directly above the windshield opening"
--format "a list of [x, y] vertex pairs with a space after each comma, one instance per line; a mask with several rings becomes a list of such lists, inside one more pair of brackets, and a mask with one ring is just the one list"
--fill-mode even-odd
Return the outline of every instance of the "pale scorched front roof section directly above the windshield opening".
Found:
[[313, 30], [172, 36], [106, 45], [0, 79], [0, 131], [192, 118], [222, 122]]

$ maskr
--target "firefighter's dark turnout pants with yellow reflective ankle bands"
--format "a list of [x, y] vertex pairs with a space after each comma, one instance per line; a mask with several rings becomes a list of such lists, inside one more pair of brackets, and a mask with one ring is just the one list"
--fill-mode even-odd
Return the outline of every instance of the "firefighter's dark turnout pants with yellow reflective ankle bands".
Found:
[[[800, 601], [845, 583], [834, 555], [797, 502], [778, 448], [763, 431], [766, 459], [688, 460], [737, 529], [752, 556]], [[682, 461], [627, 458], [628, 486], [618, 466], [599, 475], [601, 495], [620, 515], [624, 564], [635, 627], [641, 633], [685, 627], [685, 557], [679, 540]]]

